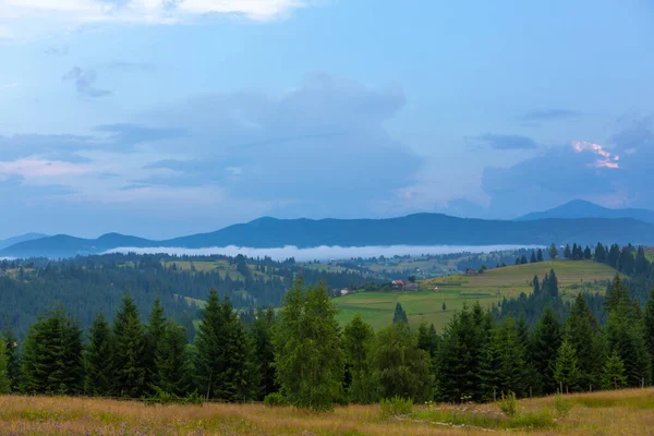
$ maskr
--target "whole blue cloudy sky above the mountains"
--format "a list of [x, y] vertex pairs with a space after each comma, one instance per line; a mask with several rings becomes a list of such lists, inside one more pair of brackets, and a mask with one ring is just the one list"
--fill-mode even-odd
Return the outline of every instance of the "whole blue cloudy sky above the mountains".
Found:
[[654, 208], [654, 3], [0, 0], [0, 237]]

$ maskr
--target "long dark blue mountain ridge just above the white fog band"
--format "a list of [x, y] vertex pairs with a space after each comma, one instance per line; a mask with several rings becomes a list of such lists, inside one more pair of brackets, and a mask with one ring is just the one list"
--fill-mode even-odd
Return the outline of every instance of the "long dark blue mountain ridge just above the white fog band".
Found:
[[21, 242], [0, 251], [5, 257], [71, 257], [119, 247], [221, 247], [228, 245], [271, 249], [284, 245], [496, 245], [582, 243], [654, 245], [654, 225], [632, 218], [579, 218], [537, 220], [483, 220], [441, 214], [415, 214], [388, 219], [276, 219], [264, 217], [165, 241], [119, 233], [98, 239], [59, 234]]

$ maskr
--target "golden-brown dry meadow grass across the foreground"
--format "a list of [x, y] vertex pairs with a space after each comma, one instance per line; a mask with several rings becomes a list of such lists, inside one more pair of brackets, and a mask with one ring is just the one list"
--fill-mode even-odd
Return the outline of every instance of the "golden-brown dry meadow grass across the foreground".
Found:
[[330, 413], [262, 404], [145, 405], [141, 402], [0, 397], [0, 435], [651, 435], [654, 388], [567, 396], [573, 408], [556, 415], [553, 398], [519, 402], [509, 419], [495, 404], [421, 405], [382, 419], [378, 405]]

